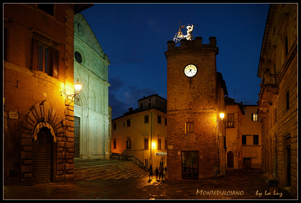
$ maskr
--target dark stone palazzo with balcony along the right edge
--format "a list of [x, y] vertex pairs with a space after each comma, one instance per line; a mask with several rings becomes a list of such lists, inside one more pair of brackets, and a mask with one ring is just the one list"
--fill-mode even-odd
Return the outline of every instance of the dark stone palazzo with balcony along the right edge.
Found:
[[271, 4], [257, 76], [262, 79], [262, 169], [298, 194], [298, 4]]

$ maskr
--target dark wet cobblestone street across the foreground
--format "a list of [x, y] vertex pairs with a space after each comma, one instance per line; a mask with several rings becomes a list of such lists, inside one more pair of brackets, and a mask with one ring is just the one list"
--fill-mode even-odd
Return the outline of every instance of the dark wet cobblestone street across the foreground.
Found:
[[[165, 182], [148, 177], [3, 187], [3, 199], [294, 199], [282, 187], [270, 195], [259, 170], [227, 170], [216, 180]], [[234, 194], [235, 192], [235, 194]], [[261, 194], [260, 194], [261, 193]]]

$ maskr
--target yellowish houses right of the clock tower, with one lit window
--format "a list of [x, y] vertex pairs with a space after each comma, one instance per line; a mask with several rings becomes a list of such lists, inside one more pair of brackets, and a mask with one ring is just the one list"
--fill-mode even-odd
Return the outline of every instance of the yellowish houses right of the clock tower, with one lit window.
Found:
[[261, 168], [261, 123], [256, 105], [226, 97], [226, 167]]

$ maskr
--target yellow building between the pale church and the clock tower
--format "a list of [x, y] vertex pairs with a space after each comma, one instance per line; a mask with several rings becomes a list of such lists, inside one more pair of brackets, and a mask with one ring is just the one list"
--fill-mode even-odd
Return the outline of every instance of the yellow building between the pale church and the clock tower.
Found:
[[139, 109], [112, 119], [111, 153], [135, 156], [153, 171], [166, 166], [166, 103], [159, 95], [138, 100]]

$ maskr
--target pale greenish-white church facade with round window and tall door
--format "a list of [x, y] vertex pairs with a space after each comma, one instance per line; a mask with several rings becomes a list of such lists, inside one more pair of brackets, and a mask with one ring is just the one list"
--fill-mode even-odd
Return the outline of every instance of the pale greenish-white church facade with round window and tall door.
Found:
[[108, 56], [82, 14], [74, 16], [74, 158], [109, 158]]

